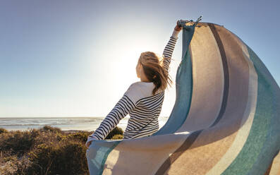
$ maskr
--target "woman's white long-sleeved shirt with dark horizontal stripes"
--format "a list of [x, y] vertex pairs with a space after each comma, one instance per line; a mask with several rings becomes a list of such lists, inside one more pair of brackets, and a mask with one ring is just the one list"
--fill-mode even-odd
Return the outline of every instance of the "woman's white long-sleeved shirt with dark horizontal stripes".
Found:
[[[167, 72], [178, 39], [178, 32], [174, 30], [164, 48], [163, 62]], [[154, 87], [155, 85], [152, 82], [138, 81], [132, 83], [95, 132], [88, 136], [87, 142], [90, 140], [104, 140], [106, 135], [127, 114], [130, 115], [130, 118], [123, 133], [123, 139], [140, 138], [157, 132], [159, 130], [158, 117], [162, 111], [162, 103], [164, 101], [164, 91], [162, 90], [152, 95]]]

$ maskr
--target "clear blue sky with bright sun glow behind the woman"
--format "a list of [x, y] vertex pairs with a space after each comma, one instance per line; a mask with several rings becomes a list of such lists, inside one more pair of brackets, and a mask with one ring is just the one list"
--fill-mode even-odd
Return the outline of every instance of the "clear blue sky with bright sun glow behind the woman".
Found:
[[[0, 117], [106, 116], [140, 80], [141, 52], [162, 54], [176, 20], [203, 16], [241, 37], [280, 85], [279, 1], [0, 2]], [[182, 34], [170, 73], [175, 83]], [[169, 116], [175, 84], [160, 116]]]

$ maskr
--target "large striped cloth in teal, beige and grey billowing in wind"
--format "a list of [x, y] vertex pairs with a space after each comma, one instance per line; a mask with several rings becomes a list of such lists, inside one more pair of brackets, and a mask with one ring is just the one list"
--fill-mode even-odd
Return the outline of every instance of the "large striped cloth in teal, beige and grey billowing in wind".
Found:
[[143, 138], [93, 141], [90, 174], [280, 174], [279, 85], [224, 26], [180, 23], [169, 120]]

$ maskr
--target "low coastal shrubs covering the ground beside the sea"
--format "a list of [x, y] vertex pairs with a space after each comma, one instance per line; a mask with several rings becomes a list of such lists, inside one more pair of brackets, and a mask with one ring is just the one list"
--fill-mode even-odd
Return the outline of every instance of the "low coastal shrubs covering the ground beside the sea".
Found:
[[[85, 152], [92, 132], [44, 126], [28, 131], [0, 128], [0, 174], [89, 174]], [[114, 128], [105, 139], [122, 139]]]

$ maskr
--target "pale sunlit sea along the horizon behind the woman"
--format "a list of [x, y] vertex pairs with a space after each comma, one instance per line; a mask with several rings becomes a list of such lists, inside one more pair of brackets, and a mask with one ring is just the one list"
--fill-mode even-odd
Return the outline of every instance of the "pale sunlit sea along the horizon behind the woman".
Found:
[[[8, 131], [24, 131], [32, 128], [42, 128], [45, 125], [60, 128], [62, 131], [83, 130], [95, 131], [105, 117], [1, 117], [0, 128]], [[126, 130], [129, 117], [126, 116], [118, 123], [118, 127]], [[159, 116], [159, 128], [162, 128], [169, 116]]]

